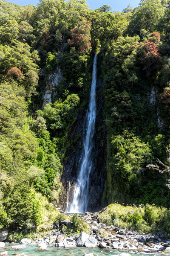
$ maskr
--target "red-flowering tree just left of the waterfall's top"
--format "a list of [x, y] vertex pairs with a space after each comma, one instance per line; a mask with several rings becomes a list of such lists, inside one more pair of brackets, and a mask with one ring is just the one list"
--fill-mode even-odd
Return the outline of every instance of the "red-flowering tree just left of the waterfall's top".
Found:
[[71, 31], [71, 39], [68, 44], [73, 45], [82, 52], [91, 49], [91, 21], [83, 20]]

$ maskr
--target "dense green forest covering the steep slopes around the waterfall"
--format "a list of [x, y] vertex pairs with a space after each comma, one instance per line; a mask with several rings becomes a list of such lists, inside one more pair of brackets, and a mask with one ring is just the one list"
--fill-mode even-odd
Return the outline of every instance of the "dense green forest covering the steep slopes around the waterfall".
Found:
[[62, 218], [63, 163], [87, 109], [95, 53], [106, 134], [101, 205], [170, 207], [169, 172], [150, 168], [170, 163], [170, 1], [116, 12], [85, 0], [1, 0], [0, 229], [25, 236]]

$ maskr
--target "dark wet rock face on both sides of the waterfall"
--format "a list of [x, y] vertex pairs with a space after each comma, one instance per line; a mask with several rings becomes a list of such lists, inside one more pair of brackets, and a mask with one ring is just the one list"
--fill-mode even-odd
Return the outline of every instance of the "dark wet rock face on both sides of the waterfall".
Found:
[[[104, 118], [102, 116], [102, 108], [104, 104], [104, 97], [99, 96], [101, 93], [102, 81], [97, 80], [96, 84], [96, 131], [94, 135], [94, 149], [93, 149], [93, 167], [89, 177], [89, 192], [88, 192], [88, 211], [99, 211], [102, 207], [105, 207], [105, 203], [101, 203], [101, 198], [104, 190], [104, 184], [106, 179], [106, 128]], [[62, 210], [66, 209], [66, 202], [68, 197], [68, 189], [70, 188], [69, 202], [71, 201], [74, 184], [77, 179], [79, 159], [82, 155], [82, 134], [83, 125], [86, 115], [86, 109], [80, 110], [76, 121], [71, 127], [68, 134], [69, 145], [65, 153], [64, 171], [62, 173], [62, 192], [59, 199], [59, 206]], [[74, 150], [73, 150], [74, 148]], [[69, 186], [70, 183], [70, 186]]]

